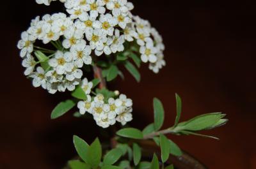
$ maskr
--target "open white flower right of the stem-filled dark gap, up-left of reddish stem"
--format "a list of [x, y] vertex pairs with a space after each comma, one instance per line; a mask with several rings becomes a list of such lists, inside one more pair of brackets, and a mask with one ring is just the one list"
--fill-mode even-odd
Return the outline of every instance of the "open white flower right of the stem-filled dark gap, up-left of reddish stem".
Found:
[[90, 56], [92, 48], [86, 45], [86, 41], [81, 41], [81, 43], [72, 46], [70, 52], [78, 68], [82, 68], [83, 64], [92, 64], [92, 57]]

